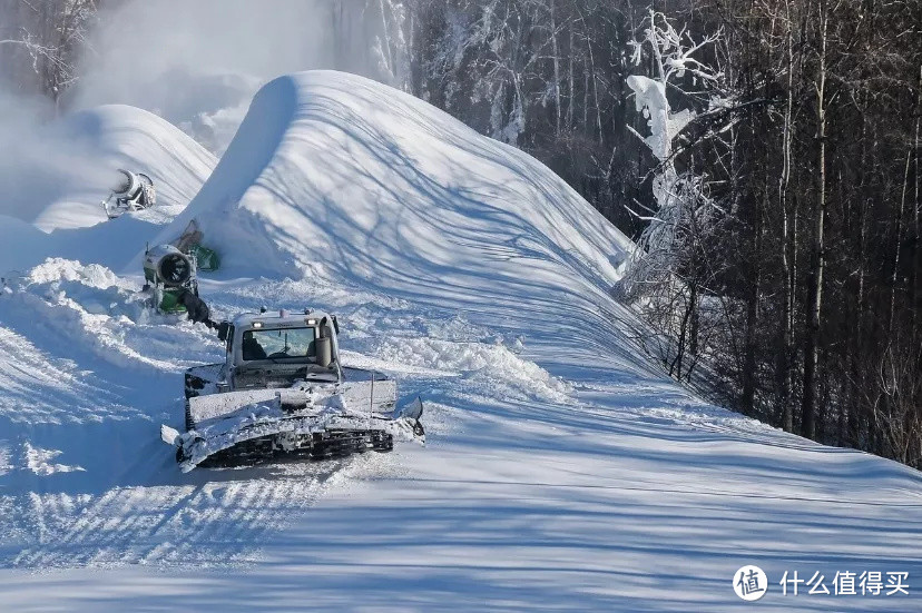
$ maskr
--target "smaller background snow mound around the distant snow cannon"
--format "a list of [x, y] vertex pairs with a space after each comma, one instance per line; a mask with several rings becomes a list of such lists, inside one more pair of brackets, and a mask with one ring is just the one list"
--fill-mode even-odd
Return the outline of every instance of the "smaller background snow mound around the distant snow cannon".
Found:
[[[48, 256], [122, 266], [156, 226], [188, 205], [217, 164], [171, 123], [124, 105], [75, 112], [22, 138], [21, 159], [0, 169], [2, 273]], [[119, 181], [119, 168], [150, 176], [157, 207], [108, 221], [100, 201]]]

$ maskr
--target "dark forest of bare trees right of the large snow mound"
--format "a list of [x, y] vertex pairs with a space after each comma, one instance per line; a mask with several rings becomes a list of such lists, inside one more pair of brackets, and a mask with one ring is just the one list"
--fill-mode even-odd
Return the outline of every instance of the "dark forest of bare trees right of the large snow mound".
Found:
[[[671, 376], [789, 432], [922, 467], [922, 3], [389, 6], [408, 89], [528, 150], [646, 238], [618, 296]], [[651, 14], [665, 56], [697, 62], [663, 80], [680, 130], [666, 157], [638, 138], [656, 109], [638, 108], [630, 83], [663, 77], [653, 46], [638, 48]]]

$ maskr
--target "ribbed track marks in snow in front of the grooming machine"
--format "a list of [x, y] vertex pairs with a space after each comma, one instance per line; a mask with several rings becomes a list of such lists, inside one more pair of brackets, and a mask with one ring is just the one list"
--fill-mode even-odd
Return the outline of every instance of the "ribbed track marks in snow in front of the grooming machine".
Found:
[[30, 492], [16, 506], [28, 507], [32, 517], [31, 543], [6, 563], [0, 560], [0, 565], [256, 562], [266, 538], [311, 507], [344, 462], [281, 465], [273, 467], [281, 475], [272, 476], [247, 476], [253, 469], [208, 472], [197, 476], [228, 481], [116, 487], [84, 504], [66, 495]]

